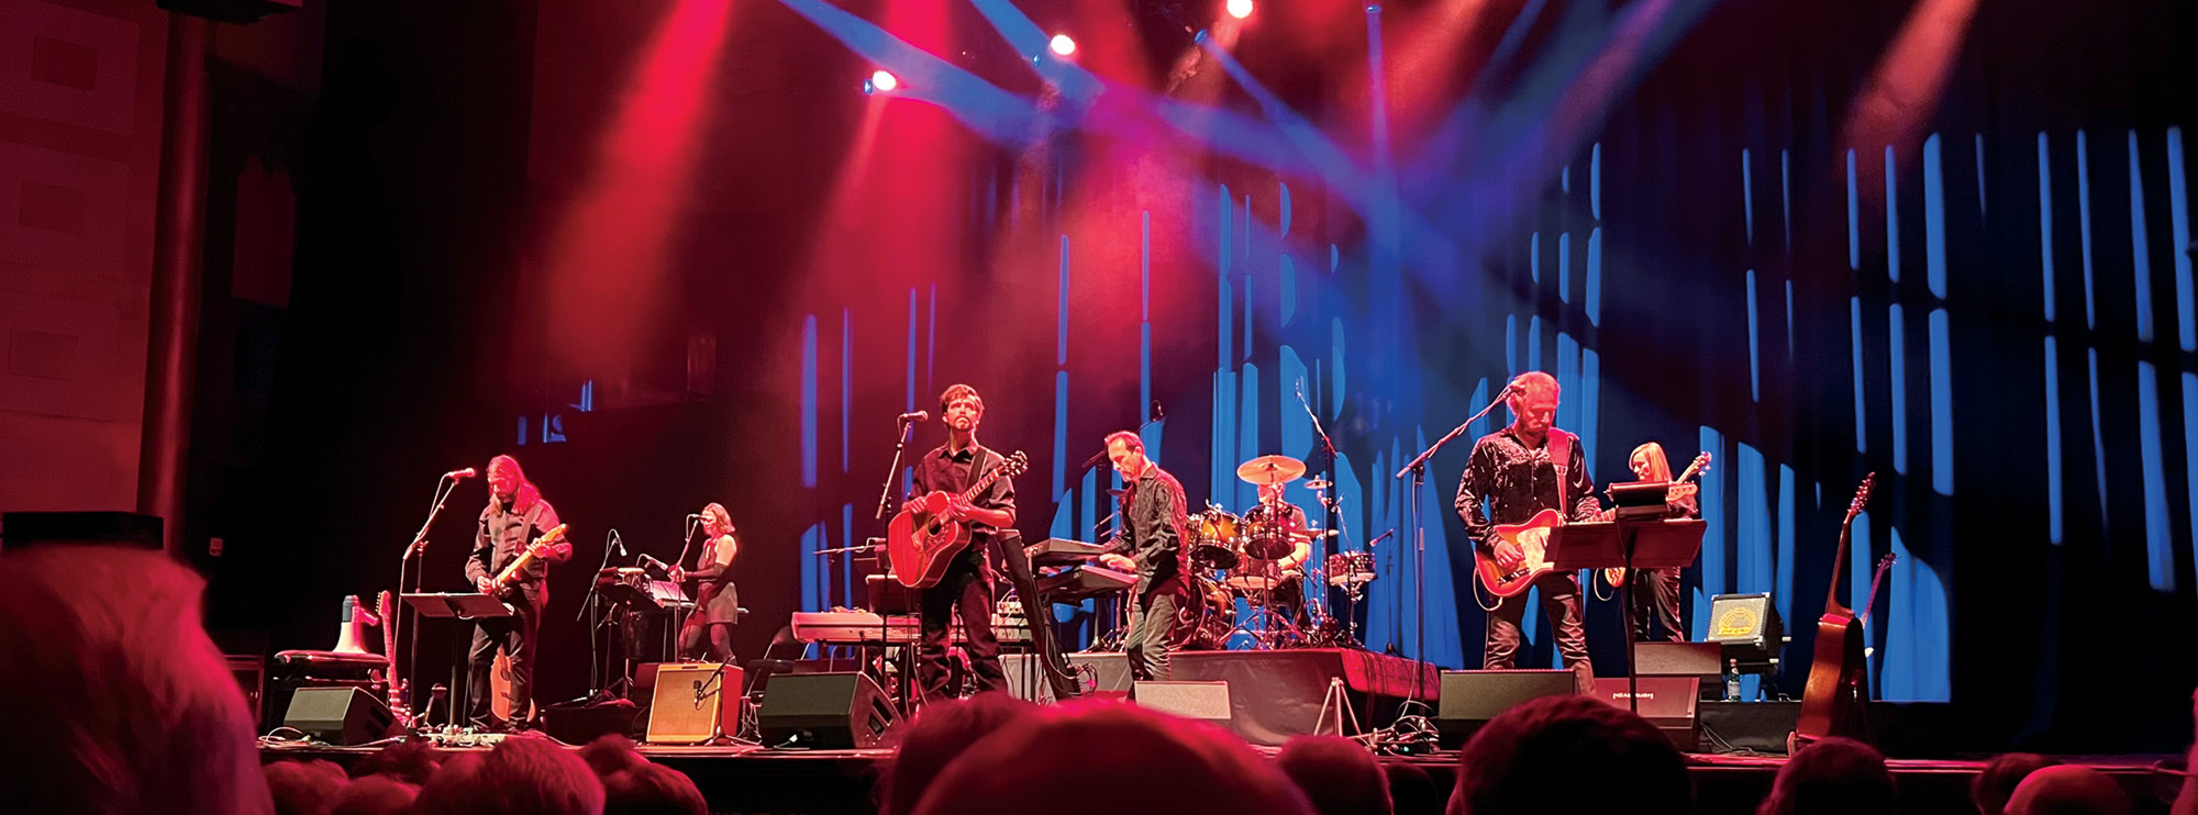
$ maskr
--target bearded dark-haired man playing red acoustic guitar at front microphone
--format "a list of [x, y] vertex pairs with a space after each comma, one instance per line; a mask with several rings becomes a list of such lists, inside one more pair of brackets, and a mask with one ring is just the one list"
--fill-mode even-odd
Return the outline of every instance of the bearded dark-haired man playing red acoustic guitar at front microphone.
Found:
[[[947, 639], [956, 613], [961, 613], [963, 633], [969, 635], [963, 655], [969, 657], [978, 692], [1007, 690], [1007, 672], [1000, 670], [1000, 639], [991, 633], [991, 604], [996, 600], [991, 547], [1000, 529], [1015, 527], [1013, 479], [993, 479], [991, 488], [976, 499], [961, 496], [987, 470], [1004, 461], [998, 453], [976, 444], [976, 428], [985, 422], [985, 398], [974, 387], [952, 384], [939, 393], [939, 415], [947, 424], [947, 444], [917, 459], [914, 496], [952, 494], [954, 503], [947, 505], [945, 516], [969, 525], [969, 547], [952, 556], [954, 560], [936, 587], [923, 589], [917, 688], [925, 699], [947, 696]], [[914, 496], [910, 496], [910, 505]]]

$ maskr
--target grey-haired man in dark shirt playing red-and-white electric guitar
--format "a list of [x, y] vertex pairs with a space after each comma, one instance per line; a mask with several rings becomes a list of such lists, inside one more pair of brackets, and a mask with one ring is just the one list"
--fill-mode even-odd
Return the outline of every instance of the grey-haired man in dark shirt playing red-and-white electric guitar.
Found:
[[[1594, 481], [1587, 457], [1572, 433], [1552, 424], [1556, 417], [1556, 378], [1543, 371], [1519, 373], [1503, 389], [1512, 424], [1473, 442], [1473, 459], [1457, 481], [1457, 516], [1466, 521], [1473, 545], [1490, 554], [1503, 569], [1517, 569], [1525, 554], [1499, 538], [1495, 525], [1523, 523], [1541, 510], [1556, 510], [1572, 521], [1596, 516]], [[1580, 578], [1572, 571], [1550, 571], [1534, 580], [1541, 589], [1541, 611], [1556, 630], [1556, 650], [1580, 688], [1594, 681], [1587, 659], [1587, 626], [1580, 615]], [[1488, 613], [1488, 646], [1481, 668], [1510, 670], [1519, 655], [1525, 619], [1525, 595], [1497, 598]]]

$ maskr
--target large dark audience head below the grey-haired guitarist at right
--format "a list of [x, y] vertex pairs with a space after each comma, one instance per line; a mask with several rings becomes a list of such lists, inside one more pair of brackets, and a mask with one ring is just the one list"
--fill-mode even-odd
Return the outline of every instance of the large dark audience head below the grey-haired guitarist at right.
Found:
[[1457, 753], [1451, 815], [1539, 813], [1552, 791], [1587, 813], [1688, 813], [1686, 758], [1646, 718], [1543, 696], [1488, 721]]

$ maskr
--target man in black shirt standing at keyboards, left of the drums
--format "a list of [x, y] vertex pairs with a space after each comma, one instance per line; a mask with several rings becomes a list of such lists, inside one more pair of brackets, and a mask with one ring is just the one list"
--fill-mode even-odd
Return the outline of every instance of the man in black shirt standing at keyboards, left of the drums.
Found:
[[1130, 655], [1130, 677], [1169, 679], [1167, 655], [1176, 650], [1172, 637], [1176, 617], [1185, 611], [1198, 613], [1189, 609], [1189, 576], [1183, 567], [1183, 527], [1189, 523], [1183, 483], [1145, 457], [1145, 442], [1136, 433], [1108, 435], [1106, 457], [1125, 488], [1123, 536], [1099, 556], [1099, 565], [1136, 571], [1136, 587], [1130, 589], [1130, 635], [1121, 644]]

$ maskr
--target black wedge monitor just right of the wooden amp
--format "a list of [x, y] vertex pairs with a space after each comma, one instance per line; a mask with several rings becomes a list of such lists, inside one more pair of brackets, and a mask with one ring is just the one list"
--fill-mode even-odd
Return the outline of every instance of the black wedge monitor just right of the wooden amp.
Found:
[[877, 747], [897, 714], [886, 692], [859, 672], [778, 674], [763, 692], [756, 729], [763, 747]]

